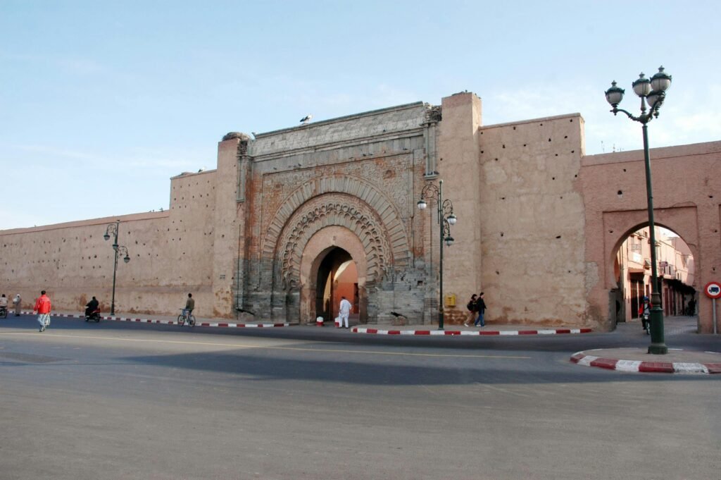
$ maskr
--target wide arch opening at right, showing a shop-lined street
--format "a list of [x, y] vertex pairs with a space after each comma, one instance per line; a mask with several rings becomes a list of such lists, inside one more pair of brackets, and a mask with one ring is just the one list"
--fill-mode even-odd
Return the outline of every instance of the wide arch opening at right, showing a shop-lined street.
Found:
[[[689, 245], [673, 230], [656, 226], [656, 271], [665, 317], [696, 315], [695, 264]], [[652, 286], [651, 241], [647, 224], [628, 232], [614, 250], [611, 318], [616, 323], [636, 321], [643, 297]]]

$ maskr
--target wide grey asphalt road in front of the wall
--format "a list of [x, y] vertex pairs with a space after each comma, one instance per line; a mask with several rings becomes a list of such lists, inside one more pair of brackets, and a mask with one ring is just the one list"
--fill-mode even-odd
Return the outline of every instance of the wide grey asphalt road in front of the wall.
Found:
[[569, 361], [647, 341], [10, 317], [0, 479], [721, 479], [721, 376]]

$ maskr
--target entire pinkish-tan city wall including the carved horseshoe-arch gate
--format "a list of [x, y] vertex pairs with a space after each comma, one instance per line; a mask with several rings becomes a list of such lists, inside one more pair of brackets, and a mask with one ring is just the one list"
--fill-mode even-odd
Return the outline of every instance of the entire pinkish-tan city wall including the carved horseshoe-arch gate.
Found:
[[[109, 310], [103, 235], [120, 220], [130, 261], [118, 264], [118, 312], [172, 314], [193, 292], [200, 317], [249, 315], [239, 307], [304, 323], [332, 314], [327, 274], [352, 259], [361, 323], [390, 323], [392, 311], [434, 323], [440, 226], [435, 197], [416, 204], [443, 180], [458, 217], [443, 248], [447, 323], [483, 291], [490, 323], [611, 329], [616, 250], [647, 224], [643, 153], [584, 149], [578, 113], [485, 126], [467, 92], [228, 134], [216, 170], [171, 178], [167, 211], [0, 230], [0, 292], [30, 307], [46, 289], [57, 310], [95, 295]], [[721, 142], [651, 158], [656, 222], [689, 245], [702, 289], [721, 268]], [[699, 295], [702, 331], [711, 318]]]

